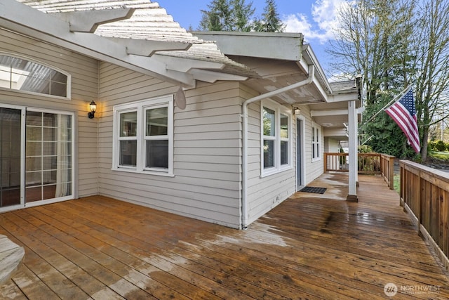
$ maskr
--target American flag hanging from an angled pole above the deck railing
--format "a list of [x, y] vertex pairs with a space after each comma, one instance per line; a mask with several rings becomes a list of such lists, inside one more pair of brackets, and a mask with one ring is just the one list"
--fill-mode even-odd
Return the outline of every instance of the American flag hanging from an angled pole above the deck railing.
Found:
[[415, 100], [413, 100], [412, 89], [385, 109], [385, 112], [401, 127], [403, 133], [406, 134], [409, 145], [412, 146], [415, 152], [419, 153], [421, 149], [420, 134], [418, 133]]

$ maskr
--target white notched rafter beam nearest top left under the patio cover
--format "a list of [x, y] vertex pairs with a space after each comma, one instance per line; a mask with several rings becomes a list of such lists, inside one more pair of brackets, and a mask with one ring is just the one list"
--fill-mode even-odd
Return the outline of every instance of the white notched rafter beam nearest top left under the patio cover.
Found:
[[135, 8], [119, 8], [99, 11], [72, 11], [69, 13], [53, 13], [52, 15], [68, 22], [71, 32], [93, 33], [99, 25], [131, 18], [134, 11]]

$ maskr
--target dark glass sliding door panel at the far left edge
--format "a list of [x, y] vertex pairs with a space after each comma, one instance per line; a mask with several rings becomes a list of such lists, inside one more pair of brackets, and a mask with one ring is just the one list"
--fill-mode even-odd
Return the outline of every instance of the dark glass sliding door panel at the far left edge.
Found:
[[20, 204], [21, 113], [0, 107], [0, 208]]

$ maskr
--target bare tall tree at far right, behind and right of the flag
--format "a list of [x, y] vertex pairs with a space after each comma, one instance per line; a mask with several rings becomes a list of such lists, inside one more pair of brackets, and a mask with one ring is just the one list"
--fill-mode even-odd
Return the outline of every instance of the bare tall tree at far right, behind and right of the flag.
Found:
[[449, 1], [427, 0], [420, 4], [417, 10], [420, 22], [417, 22], [413, 44], [418, 70], [414, 86], [421, 155], [426, 159], [431, 125], [447, 118], [447, 115], [436, 116], [446, 105], [449, 90]]

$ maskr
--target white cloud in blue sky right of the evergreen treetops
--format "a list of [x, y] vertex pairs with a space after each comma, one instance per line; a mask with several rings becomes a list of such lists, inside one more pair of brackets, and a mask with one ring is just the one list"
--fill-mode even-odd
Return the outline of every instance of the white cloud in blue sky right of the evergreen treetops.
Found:
[[311, 7], [311, 20], [304, 13], [283, 16], [286, 32], [301, 32], [306, 41], [318, 40], [321, 44], [335, 37], [337, 14], [345, 0], [316, 0]]

